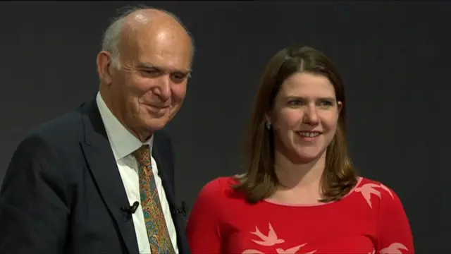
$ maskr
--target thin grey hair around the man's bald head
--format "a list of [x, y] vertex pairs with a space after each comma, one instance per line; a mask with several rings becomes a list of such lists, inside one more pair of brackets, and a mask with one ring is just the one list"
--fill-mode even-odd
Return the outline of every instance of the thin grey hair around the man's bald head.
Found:
[[[121, 8], [119, 12], [121, 13], [116, 18], [113, 18], [111, 24], [108, 28], [106, 28], [104, 32], [104, 37], [101, 44], [101, 50], [110, 52], [111, 53], [111, 64], [114, 68], [121, 68], [121, 61], [120, 61], [120, 54], [119, 47], [121, 42], [121, 31], [123, 28], [123, 25], [125, 23], [125, 18], [135, 11], [140, 11], [143, 9], [152, 8], [149, 6], [134, 6], [134, 7], [125, 7]], [[183, 28], [185, 28], [188, 36], [190, 36], [191, 42], [192, 42], [192, 55], [194, 57], [194, 38], [191, 36], [190, 32], [187, 30], [186, 26], [182, 23], [180, 18], [175, 16], [175, 14], [165, 11], [159, 8], [153, 8], [158, 11], [162, 11], [163, 13], [168, 14], [169, 16], [173, 17], [175, 20], [182, 25]]]

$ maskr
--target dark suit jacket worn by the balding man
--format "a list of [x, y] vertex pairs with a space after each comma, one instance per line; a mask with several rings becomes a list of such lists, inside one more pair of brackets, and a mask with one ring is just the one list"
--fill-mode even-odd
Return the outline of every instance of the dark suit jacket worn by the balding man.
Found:
[[[174, 197], [171, 140], [154, 133], [152, 155], [173, 210], [180, 253], [190, 253]], [[25, 138], [0, 192], [0, 253], [139, 253], [129, 204], [94, 101]], [[174, 212], [179, 211], [179, 212]], [[155, 253], [154, 253], [155, 254]]]

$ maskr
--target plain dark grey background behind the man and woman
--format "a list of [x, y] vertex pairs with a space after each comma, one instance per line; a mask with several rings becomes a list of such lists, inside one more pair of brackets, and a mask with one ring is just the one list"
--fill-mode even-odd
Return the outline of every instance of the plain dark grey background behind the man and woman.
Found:
[[[347, 89], [350, 146], [364, 176], [404, 202], [417, 253], [447, 253], [450, 24], [446, 1], [141, 2], [175, 12], [197, 44], [187, 99], [168, 126], [177, 194], [240, 172], [259, 76], [291, 42], [325, 52]], [[127, 5], [132, 5], [128, 2]], [[121, 1], [0, 3], [0, 182], [30, 128], [97, 92], [101, 35]]]

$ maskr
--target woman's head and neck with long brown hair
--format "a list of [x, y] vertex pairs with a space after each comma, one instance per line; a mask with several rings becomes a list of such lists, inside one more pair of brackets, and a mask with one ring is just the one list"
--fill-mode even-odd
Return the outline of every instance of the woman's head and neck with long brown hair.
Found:
[[315, 49], [293, 46], [271, 59], [247, 136], [248, 172], [235, 188], [249, 202], [274, 198], [280, 186], [312, 183], [321, 191], [291, 202], [328, 202], [357, 183], [347, 152], [345, 89], [333, 63]]

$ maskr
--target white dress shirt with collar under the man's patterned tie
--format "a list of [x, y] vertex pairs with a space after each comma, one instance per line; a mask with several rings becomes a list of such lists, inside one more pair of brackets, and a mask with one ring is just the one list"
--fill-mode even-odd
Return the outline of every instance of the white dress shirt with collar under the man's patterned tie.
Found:
[[[109, 108], [106, 106], [104, 99], [102, 99], [100, 92], [97, 93], [97, 106], [99, 107], [101, 119], [104, 121], [106, 133], [113, 150], [116, 164], [118, 165], [119, 173], [123, 181], [125, 192], [127, 193], [128, 202], [130, 205], [133, 202], [140, 202], [140, 207], [132, 214], [133, 224], [135, 225], [135, 233], [138, 242], [140, 253], [152, 253], [150, 250], [149, 238], [147, 238], [147, 229], [144, 224], [144, 214], [141, 207], [140, 198], [140, 182], [138, 176], [138, 165], [135, 157], [131, 154], [142, 145], [149, 145], [152, 154], [153, 136], [144, 144], [135, 138], [122, 124], [116, 119]], [[174, 246], [175, 253], [178, 253], [177, 235], [175, 226], [171, 217], [171, 210], [169, 209], [168, 201], [166, 200], [166, 193], [161, 184], [161, 178], [158, 175], [158, 168], [154, 157], [152, 157], [152, 171], [154, 173], [156, 188], [158, 190], [161, 206], [163, 207], [164, 218], [168, 225], [169, 236]], [[157, 254], [157, 253], [154, 253]]]

